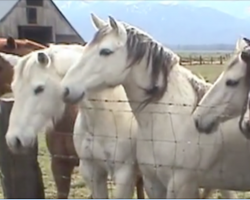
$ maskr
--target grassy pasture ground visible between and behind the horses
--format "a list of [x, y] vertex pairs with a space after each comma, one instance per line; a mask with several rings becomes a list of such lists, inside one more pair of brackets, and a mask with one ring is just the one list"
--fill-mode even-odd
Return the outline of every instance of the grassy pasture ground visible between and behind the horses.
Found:
[[[196, 65], [196, 66], [187, 66], [187, 68], [192, 70], [194, 73], [202, 75], [207, 80], [213, 82], [223, 70], [223, 65], [202, 65], [202, 66]], [[56, 198], [56, 189], [52, 173], [50, 170], [50, 155], [47, 151], [44, 138], [45, 137], [42, 134], [39, 136], [39, 161], [43, 172], [43, 181], [45, 184], [46, 197], [54, 199]], [[84, 187], [82, 178], [78, 174], [77, 169], [75, 169], [74, 171], [71, 185], [72, 186], [69, 198], [81, 199], [88, 197], [89, 191]], [[243, 194], [241, 193], [241, 195]], [[240, 197], [246, 198], [245, 195], [246, 193], [244, 193], [244, 196]], [[216, 195], [215, 197], [219, 196]], [[0, 198], [3, 198], [1, 191], [0, 191]]]

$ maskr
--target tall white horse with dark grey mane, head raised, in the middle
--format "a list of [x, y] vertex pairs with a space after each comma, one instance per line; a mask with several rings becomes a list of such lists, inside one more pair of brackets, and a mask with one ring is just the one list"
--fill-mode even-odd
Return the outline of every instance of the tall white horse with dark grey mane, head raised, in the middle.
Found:
[[198, 187], [249, 190], [245, 138], [235, 121], [226, 123], [221, 134], [196, 131], [192, 74], [179, 65], [178, 56], [112, 17], [106, 23], [92, 15], [92, 21], [98, 31], [61, 82], [64, 101], [75, 103], [93, 90], [124, 86], [139, 125], [137, 162], [148, 196], [198, 198]]

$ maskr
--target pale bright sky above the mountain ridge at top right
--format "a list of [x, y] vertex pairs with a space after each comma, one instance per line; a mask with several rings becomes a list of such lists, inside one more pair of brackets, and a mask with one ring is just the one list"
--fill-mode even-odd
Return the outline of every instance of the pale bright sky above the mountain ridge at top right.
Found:
[[[58, 0], [56, 0], [55, 2], [57, 2], [57, 1]], [[75, 0], [75, 1], [77, 1], [77, 0]], [[84, 0], [78, 0], [78, 1], [84, 1]], [[147, 0], [147, 1], [149, 1], [149, 0]], [[70, 2], [72, 2], [72, 1], [64, 1], [64, 2], [65, 2], [65, 7], [67, 7], [70, 5]], [[91, 0], [88, 0], [87, 2], [91, 2]], [[132, 2], [132, 1], [130, 0], [127, 2]], [[250, 1], [247, 1], [247, 0], [245, 0], [245, 1], [240, 1], [240, 0], [234, 0], [234, 1], [226, 1], [226, 0], [224, 0], [224, 1], [206, 1], [206, 0], [183, 0], [183, 1], [174, 0], [174, 1], [171, 1], [171, 0], [166, 0], [166, 1], [160, 1], [160, 2], [164, 3], [164, 4], [183, 4], [183, 3], [186, 4], [187, 3], [187, 4], [192, 4], [194, 6], [207, 6], [207, 7], [215, 8], [215, 9], [218, 9], [220, 11], [229, 13], [231, 15], [238, 17], [238, 18], [250, 18]]]

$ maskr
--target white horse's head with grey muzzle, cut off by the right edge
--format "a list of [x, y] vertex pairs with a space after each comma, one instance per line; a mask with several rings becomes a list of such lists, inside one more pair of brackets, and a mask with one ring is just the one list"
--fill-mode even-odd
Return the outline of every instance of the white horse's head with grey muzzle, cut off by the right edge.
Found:
[[[206, 93], [194, 113], [198, 131], [209, 134], [217, 130], [220, 123], [239, 115], [243, 117], [249, 89], [250, 40], [240, 38], [228, 67]], [[250, 138], [247, 125], [248, 123], [241, 124], [240, 121], [244, 135]]]

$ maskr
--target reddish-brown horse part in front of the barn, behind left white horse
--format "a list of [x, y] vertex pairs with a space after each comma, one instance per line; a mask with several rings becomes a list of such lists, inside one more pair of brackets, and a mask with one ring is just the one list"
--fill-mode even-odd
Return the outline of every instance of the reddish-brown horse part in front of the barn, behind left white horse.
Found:
[[34, 50], [44, 49], [46, 46], [30, 40], [19, 40], [12, 37], [0, 38], [0, 52], [24, 56]]

